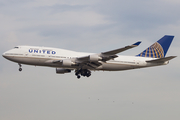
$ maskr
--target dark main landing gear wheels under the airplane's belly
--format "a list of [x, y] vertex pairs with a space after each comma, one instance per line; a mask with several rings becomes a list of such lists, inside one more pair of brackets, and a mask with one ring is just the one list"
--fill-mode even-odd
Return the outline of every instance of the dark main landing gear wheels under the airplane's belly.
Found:
[[81, 76], [89, 77], [91, 76], [91, 71], [88, 69], [79, 69], [75, 71], [75, 75], [78, 79], [81, 78]]

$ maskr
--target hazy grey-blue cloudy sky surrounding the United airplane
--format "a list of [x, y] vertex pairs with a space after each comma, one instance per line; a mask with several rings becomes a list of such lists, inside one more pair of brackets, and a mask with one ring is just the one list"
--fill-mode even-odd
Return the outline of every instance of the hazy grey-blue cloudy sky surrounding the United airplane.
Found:
[[[16, 45], [104, 52], [141, 40], [137, 55], [175, 35], [167, 56], [180, 56], [179, 0], [0, 0], [0, 53]], [[0, 120], [178, 120], [179, 57], [167, 66], [73, 73], [0, 57]]]

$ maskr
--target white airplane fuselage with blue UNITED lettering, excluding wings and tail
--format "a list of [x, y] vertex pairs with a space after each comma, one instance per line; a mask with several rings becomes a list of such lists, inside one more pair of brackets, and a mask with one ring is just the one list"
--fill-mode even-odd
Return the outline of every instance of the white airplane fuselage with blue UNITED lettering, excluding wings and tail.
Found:
[[[52, 61], [64, 59], [76, 59], [78, 57], [91, 55], [94, 53], [75, 52], [64, 49], [37, 47], [37, 46], [18, 46], [3, 54], [8, 60], [17, 62], [19, 64], [49, 66], [55, 68], [76, 69], [77, 66], [63, 66], [59, 63], [52, 63]], [[138, 57], [138, 56], [118, 56], [115, 59], [103, 62], [102, 65], [93, 70], [118, 71], [135, 68], [151, 67], [158, 65], [165, 65], [165, 63], [148, 63], [146, 61], [156, 58]]]

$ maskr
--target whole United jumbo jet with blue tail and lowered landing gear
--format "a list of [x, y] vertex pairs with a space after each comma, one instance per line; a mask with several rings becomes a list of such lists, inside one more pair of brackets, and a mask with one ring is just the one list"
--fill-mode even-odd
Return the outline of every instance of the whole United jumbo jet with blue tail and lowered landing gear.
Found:
[[128, 49], [137, 47], [141, 41], [119, 49], [101, 52], [84, 53], [65, 49], [16, 46], [3, 53], [3, 57], [18, 63], [19, 71], [21, 64], [48, 66], [56, 68], [57, 74], [70, 73], [75, 70], [79, 79], [81, 76], [91, 76], [91, 71], [122, 71], [152, 66], [167, 65], [169, 60], [177, 56], [165, 57], [174, 36], [165, 35], [146, 50], [135, 56], [117, 55]]

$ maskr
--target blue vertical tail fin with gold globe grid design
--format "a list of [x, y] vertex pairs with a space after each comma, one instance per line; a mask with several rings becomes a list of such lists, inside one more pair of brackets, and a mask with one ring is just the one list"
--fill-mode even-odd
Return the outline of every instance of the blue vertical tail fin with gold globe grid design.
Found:
[[171, 45], [173, 38], [174, 36], [165, 35], [137, 56], [163, 58], [166, 56], [166, 53], [169, 49], [169, 46]]

